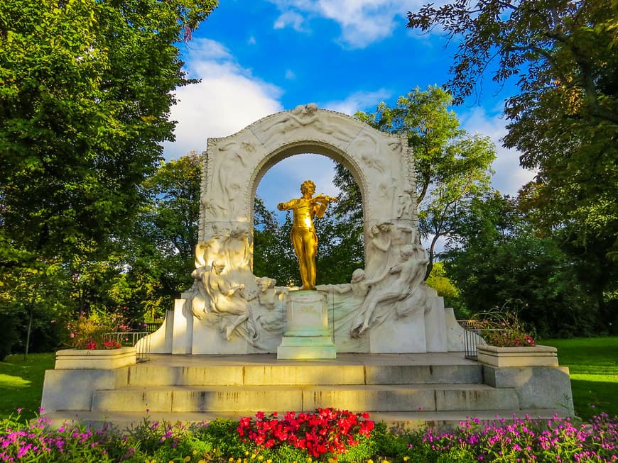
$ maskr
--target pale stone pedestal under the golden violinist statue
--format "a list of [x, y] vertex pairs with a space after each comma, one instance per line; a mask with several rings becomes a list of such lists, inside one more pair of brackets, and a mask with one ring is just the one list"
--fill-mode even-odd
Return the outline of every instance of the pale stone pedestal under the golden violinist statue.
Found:
[[335, 359], [337, 347], [328, 330], [326, 294], [291, 291], [287, 329], [277, 348], [278, 359]]

